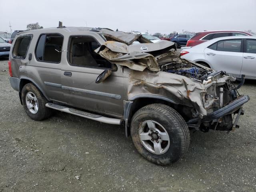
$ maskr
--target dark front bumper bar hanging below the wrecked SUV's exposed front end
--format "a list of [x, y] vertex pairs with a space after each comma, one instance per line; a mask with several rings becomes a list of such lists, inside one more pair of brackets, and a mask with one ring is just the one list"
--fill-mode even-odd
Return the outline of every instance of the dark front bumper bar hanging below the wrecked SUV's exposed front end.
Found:
[[192, 124], [194, 124], [194, 123], [210, 122], [212, 120], [219, 119], [228, 114], [238, 113], [238, 110], [243, 106], [243, 104], [245, 104], [249, 100], [250, 100], [250, 97], [248, 95], [241, 96], [241, 97], [233, 100], [232, 102], [230, 102], [228, 105], [224, 106], [223, 108], [220, 108], [219, 110], [214, 111], [211, 114], [204, 116], [202, 119], [194, 118], [194, 119], [189, 120], [186, 123], [188, 124], [188, 126], [190, 126], [190, 125], [192, 126]]

